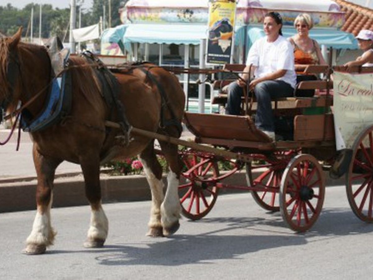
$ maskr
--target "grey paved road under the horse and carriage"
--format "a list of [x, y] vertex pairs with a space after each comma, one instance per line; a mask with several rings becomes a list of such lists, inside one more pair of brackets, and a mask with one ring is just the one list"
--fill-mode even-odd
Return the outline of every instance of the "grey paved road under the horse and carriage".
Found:
[[145, 237], [150, 202], [104, 205], [110, 233], [84, 249], [87, 206], [52, 210], [56, 244], [21, 254], [35, 212], [0, 214], [1, 279], [371, 279], [373, 225], [358, 220], [344, 187], [328, 187], [313, 229], [294, 234], [279, 213], [248, 194], [220, 196], [203, 220], [185, 218], [175, 236]]

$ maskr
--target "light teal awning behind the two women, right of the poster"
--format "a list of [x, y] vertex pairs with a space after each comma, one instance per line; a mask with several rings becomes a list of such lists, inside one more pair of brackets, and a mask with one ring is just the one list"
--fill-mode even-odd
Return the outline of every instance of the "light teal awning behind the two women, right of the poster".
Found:
[[[297, 31], [293, 27], [283, 27], [282, 34], [284, 37], [291, 37], [295, 35]], [[251, 26], [247, 29], [248, 46], [250, 47], [257, 39], [264, 37], [263, 27]], [[357, 40], [354, 35], [348, 32], [335, 30], [335, 29], [311, 29], [310, 37], [319, 43], [319, 45], [325, 45], [327, 47], [333, 47], [333, 49], [358, 49]]]

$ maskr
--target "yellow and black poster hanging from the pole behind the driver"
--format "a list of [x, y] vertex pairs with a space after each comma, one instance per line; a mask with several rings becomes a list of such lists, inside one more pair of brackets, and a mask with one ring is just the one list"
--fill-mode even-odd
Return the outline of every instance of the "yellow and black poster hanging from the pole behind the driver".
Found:
[[230, 63], [235, 14], [236, 0], [209, 0], [206, 63]]

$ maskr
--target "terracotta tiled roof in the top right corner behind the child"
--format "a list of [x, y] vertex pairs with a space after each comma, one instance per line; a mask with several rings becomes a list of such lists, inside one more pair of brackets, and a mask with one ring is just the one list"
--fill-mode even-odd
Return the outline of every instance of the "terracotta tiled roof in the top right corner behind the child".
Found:
[[373, 10], [345, 1], [334, 0], [341, 6], [341, 10], [345, 12], [346, 21], [341, 27], [342, 31], [350, 32], [355, 36], [361, 29], [369, 29], [373, 31]]

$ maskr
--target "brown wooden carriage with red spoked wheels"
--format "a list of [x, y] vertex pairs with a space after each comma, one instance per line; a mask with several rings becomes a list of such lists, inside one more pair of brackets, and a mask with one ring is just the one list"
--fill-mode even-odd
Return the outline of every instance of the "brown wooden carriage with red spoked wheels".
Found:
[[[239, 70], [242, 71], [242, 66]], [[373, 69], [352, 70], [373, 72]], [[201, 145], [181, 152], [186, 166], [182, 173], [185, 180], [179, 186], [183, 214], [198, 220], [209, 213], [219, 189], [236, 188], [250, 191], [264, 209], [281, 211], [292, 230], [308, 230], [322, 209], [325, 197], [323, 170], [330, 168], [336, 157], [333, 112], [330, 109], [333, 106], [330, 72], [326, 65], [308, 66], [305, 74], [322, 74], [323, 78], [303, 81], [297, 88], [312, 89], [316, 94], [273, 101], [275, 116], [288, 116], [294, 125], [290, 136], [287, 131], [285, 140], [272, 141], [255, 127], [250, 115], [255, 112], [255, 100], [250, 100], [247, 95], [242, 98], [242, 108], [248, 115], [186, 112], [184, 122], [194, 134], [195, 142]], [[217, 82], [219, 87], [224, 83]], [[215, 102], [224, 103], [225, 99], [222, 93]], [[351, 208], [357, 217], [369, 223], [373, 222], [372, 132], [373, 126], [370, 126], [355, 140], [353, 156], [345, 174]], [[206, 151], [203, 148], [206, 146], [216, 149]], [[229, 171], [220, 174], [219, 162], [228, 166]], [[221, 182], [242, 168], [246, 169], [245, 186]]]

